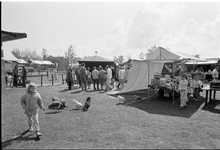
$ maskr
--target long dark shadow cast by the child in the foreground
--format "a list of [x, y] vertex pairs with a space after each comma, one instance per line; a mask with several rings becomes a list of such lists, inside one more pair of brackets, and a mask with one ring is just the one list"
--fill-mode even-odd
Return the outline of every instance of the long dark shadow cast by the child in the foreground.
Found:
[[36, 137], [30, 137], [31, 134], [25, 136], [27, 133], [29, 133], [28, 130], [22, 132], [20, 135], [12, 138], [12, 139], [9, 139], [9, 140], [6, 140], [4, 142], [2, 142], [2, 148], [6, 148], [8, 147], [9, 145], [12, 144], [13, 141], [39, 141], [40, 139], [36, 138]]

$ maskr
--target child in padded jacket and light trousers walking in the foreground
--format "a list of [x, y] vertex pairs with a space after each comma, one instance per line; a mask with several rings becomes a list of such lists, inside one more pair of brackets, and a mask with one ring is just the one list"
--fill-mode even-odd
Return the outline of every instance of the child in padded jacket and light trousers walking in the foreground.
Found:
[[21, 106], [25, 109], [24, 113], [28, 117], [29, 131], [35, 131], [36, 136], [42, 136], [39, 132], [38, 112], [39, 107], [45, 110], [43, 100], [36, 90], [36, 85], [30, 83], [26, 93], [21, 97]]

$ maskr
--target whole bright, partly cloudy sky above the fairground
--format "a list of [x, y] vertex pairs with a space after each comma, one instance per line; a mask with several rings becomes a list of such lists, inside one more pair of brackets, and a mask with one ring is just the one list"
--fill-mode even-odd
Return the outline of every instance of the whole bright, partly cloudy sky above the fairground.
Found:
[[43, 48], [65, 56], [138, 59], [156, 45], [202, 58], [220, 57], [217, 1], [3, 1], [2, 30], [27, 33], [3, 43], [4, 51]]

